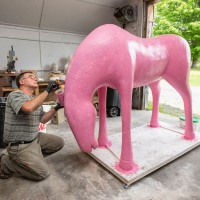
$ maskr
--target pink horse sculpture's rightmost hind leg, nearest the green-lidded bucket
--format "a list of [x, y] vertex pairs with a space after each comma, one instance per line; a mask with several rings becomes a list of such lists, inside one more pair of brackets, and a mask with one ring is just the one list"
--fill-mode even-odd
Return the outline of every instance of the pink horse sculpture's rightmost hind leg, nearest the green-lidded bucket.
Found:
[[186, 81], [171, 81], [167, 80], [171, 86], [173, 86], [178, 93], [181, 95], [184, 102], [184, 111], [185, 111], [185, 133], [184, 139], [192, 140], [195, 138], [192, 122], [192, 95], [190, 91], [189, 84]]

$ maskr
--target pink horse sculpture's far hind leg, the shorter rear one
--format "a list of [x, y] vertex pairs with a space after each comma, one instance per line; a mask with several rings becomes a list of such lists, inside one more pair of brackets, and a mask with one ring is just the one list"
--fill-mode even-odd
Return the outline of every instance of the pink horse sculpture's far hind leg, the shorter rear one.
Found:
[[152, 97], [153, 97], [153, 109], [152, 109], [150, 126], [159, 127], [158, 109], [159, 109], [159, 98], [160, 98], [160, 81], [156, 81], [149, 84], [149, 87], [152, 91]]

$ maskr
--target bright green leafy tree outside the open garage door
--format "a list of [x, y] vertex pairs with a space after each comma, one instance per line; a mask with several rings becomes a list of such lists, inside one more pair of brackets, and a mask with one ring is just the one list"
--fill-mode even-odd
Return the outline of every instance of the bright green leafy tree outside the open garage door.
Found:
[[200, 0], [162, 0], [155, 6], [154, 23], [154, 36], [182, 36], [190, 45], [193, 66], [200, 61]]

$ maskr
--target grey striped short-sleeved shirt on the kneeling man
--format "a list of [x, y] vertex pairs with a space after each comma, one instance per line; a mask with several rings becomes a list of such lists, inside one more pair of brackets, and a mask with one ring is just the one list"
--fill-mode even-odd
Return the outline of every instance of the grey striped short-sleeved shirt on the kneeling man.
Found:
[[32, 141], [37, 137], [40, 120], [44, 114], [42, 106], [32, 113], [21, 111], [22, 105], [33, 98], [21, 90], [8, 95], [3, 135], [5, 143]]

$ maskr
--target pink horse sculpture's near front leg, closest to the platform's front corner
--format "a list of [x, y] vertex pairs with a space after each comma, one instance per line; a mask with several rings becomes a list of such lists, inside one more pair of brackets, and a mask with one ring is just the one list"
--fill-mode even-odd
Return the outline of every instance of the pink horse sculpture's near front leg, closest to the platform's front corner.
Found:
[[119, 91], [122, 108], [122, 149], [119, 168], [135, 172], [138, 166], [133, 161], [132, 142], [131, 142], [131, 94], [132, 89], [128, 87], [126, 91]]

